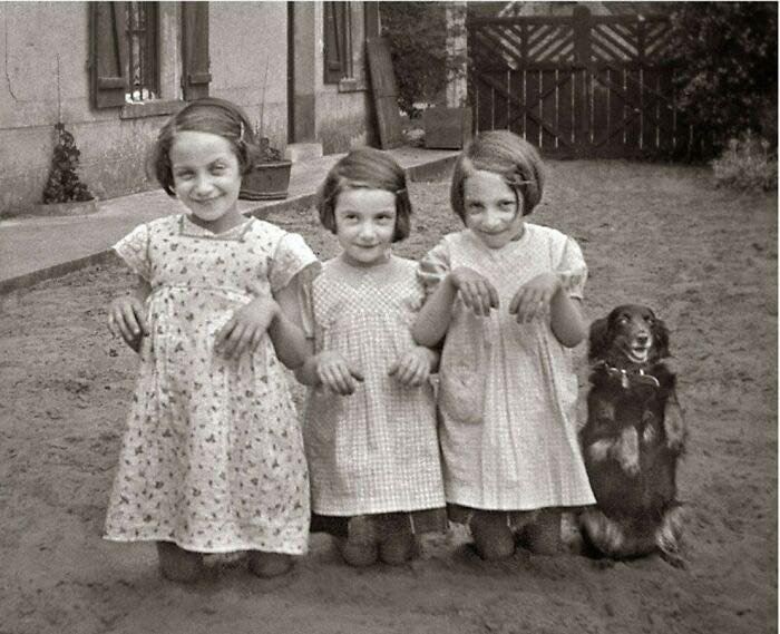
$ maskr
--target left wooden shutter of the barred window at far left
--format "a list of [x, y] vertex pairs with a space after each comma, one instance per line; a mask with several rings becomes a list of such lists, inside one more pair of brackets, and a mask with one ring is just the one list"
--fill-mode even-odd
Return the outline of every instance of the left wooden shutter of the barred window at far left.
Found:
[[89, 84], [95, 108], [125, 105], [129, 91], [127, 68], [127, 7], [125, 2], [89, 3]]

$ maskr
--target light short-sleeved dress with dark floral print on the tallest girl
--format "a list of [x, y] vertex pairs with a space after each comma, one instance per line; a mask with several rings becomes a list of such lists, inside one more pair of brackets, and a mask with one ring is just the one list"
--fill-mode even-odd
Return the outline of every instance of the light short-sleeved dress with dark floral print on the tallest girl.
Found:
[[309, 480], [286, 371], [267, 333], [238, 360], [215, 353], [214, 341], [236, 309], [316, 257], [300, 235], [262, 221], [215, 235], [186, 215], [140, 225], [114, 248], [152, 285], [150, 335], [106, 538], [304, 553]]

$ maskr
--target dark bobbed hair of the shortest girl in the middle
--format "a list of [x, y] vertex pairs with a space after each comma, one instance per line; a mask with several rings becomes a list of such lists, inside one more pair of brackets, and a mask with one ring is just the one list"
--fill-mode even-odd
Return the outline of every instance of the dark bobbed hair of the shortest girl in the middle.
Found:
[[392, 242], [409, 235], [412, 209], [407, 176], [390, 155], [372, 147], [361, 147], [350, 152], [331, 168], [316, 196], [320, 222], [331, 233], [337, 233], [335, 204], [345, 188], [384, 189], [396, 194]]

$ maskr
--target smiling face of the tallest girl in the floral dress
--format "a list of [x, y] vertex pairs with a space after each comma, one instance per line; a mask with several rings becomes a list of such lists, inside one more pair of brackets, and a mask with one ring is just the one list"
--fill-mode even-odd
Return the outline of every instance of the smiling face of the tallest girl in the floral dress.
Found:
[[176, 196], [196, 224], [222, 233], [244, 221], [238, 212], [241, 165], [226, 138], [194, 130], [176, 133], [170, 172]]

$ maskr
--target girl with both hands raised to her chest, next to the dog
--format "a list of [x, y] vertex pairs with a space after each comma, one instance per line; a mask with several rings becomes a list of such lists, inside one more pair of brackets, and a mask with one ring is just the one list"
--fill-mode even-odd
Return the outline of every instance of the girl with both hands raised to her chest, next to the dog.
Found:
[[[428, 300], [413, 328], [443, 339], [439, 435], [450, 518], [486, 559], [559, 546], [560, 510], [593, 504], [577, 442], [571, 348], [586, 334], [577, 244], [525, 222], [542, 160], [508, 131], [479, 135], [456, 164], [450, 198], [466, 228], [420, 262]], [[445, 336], [446, 335], [446, 336]]]

